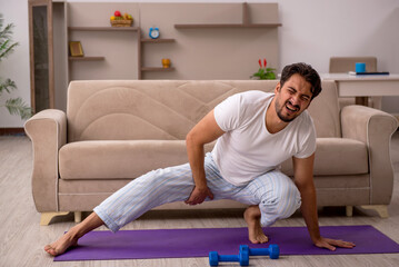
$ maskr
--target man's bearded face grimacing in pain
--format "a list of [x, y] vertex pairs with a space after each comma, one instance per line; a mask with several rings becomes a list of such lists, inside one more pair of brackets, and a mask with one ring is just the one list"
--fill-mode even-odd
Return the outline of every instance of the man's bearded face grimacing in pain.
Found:
[[293, 75], [283, 87], [278, 83], [276, 92], [276, 112], [280, 120], [290, 122], [306, 110], [311, 101], [311, 85], [300, 75]]

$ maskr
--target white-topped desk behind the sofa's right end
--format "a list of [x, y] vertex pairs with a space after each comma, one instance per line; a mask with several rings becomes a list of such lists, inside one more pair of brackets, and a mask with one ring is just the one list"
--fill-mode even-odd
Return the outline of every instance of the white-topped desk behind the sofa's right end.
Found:
[[[320, 75], [322, 80], [335, 80], [340, 97], [356, 97], [357, 105], [367, 106], [368, 97], [399, 96], [399, 75], [352, 76]], [[398, 103], [399, 105], [399, 103]]]

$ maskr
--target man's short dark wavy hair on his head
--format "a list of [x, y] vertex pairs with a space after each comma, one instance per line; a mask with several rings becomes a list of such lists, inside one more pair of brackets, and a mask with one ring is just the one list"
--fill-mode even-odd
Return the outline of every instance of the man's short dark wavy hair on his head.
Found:
[[310, 65], [300, 62], [286, 66], [282, 69], [280, 86], [282, 87], [293, 75], [300, 75], [311, 85], [311, 99], [316, 98], [321, 92], [320, 76]]

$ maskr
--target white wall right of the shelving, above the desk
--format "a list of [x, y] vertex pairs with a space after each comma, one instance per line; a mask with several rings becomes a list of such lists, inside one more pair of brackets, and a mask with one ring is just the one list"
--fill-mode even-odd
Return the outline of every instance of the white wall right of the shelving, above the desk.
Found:
[[[306, 61], [328, 72], [331, 56], [376, 56], [379, 71], [399, 73], [398, 0], [278, 2], [280, 66]], [[385, 97], [382, 110], [399, 113], [399, 97]]]

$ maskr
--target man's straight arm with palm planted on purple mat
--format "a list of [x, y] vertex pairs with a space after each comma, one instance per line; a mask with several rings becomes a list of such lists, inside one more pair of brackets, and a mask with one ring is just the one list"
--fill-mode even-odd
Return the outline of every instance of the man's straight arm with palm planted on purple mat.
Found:
[[295, 184], [301, 198], [301, 211], [311, 240], [317, 247], [336, 250], [336, 247], [352, 248], [353, 243], [323, 238], [320, 236], [319, 219], [317, 215], [316, 187], [313, 182], [315, 154], [308, 158], [292, 157]]

